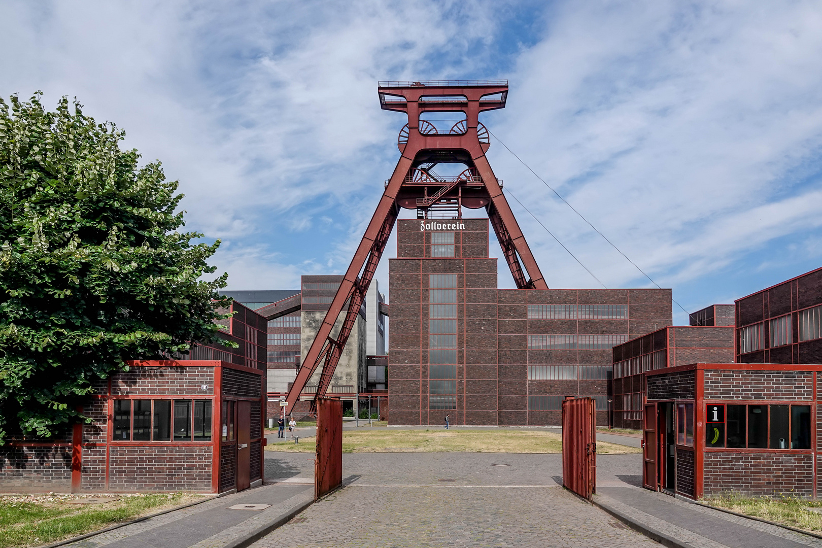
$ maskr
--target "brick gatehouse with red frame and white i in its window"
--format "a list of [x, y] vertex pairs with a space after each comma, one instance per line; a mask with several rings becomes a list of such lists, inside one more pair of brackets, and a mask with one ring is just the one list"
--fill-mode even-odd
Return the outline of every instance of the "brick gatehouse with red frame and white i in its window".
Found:
[[700, 498], [815, 498], [819, 365], [696, 363], [645, 374], [643, 482]]

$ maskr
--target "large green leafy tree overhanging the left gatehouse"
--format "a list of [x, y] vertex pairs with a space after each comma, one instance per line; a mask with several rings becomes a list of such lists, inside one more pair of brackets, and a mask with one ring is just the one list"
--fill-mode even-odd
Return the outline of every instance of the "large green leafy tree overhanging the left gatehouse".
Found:
[[63, 97], [0, 98], [0, 444], [81, 420], [126, 360], [218, 339], [214, 244], [179, 232], [182, 195], [124, 132]]

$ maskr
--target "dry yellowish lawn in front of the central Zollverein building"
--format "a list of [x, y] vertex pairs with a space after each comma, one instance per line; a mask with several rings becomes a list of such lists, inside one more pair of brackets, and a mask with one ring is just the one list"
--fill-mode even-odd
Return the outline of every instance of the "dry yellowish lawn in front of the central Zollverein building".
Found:
[[[267, 445], [270, 451], [313, 453], [314, 438], [299, 444]], [[441, 453], [472, 451], [477, 453], [561, 453], [561, 435], [543, 431], [496, 430], [370, 430], [344, 431], [344, 453]], [[600, 454], [640, 453], [641, 449], [597, 442]]]

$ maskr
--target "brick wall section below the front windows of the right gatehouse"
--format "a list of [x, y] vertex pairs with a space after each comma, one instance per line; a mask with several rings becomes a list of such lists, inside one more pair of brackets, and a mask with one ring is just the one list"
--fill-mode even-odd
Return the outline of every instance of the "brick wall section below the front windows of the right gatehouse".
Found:
[[810, 454], [704, 453], [704, 495], [736, 491], [742, 495], [813, 494]]

